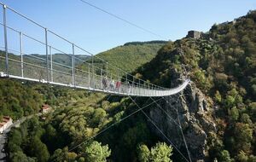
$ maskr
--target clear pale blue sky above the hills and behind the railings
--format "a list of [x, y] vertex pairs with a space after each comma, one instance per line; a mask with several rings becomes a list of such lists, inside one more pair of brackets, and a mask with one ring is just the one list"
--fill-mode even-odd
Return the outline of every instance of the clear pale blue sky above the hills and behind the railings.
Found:
[[[117, 14], [138, 26], [143, 26], [172, 41], [183, 38], [189, 30], [207, 32], [214, 23], [247, 14], [256, 9], [256, 1], [250, 0], [86, 0]], [[43, 26], [97, 54], [131, 41], [150, 41], [162, 38], [125, 24], [108, 14], [94, 9], [79, 0], [2, 0], [2, 3], [36, 20]], [[1, 22], [3, 22], [1, 11]], [[44, 30], [32, 26], [26, 20], [7, 13], [7, 22], [22, 32], [44, 41]], [[1, 26], [2, 27], [2, 26]], [[3, 34], [3, 27], [0, 35]], [[49, 44], [70, 53], [71, 45], [49, 35]], [[9, 47], [19, 49], [19, 37], [9, 32]], [[24, 38], [27, 53], [40, 53], [44, 47]], [[3, 46], [3, 37], [0, 45]], [[78, 54], [82, 51], [77, 49]]]

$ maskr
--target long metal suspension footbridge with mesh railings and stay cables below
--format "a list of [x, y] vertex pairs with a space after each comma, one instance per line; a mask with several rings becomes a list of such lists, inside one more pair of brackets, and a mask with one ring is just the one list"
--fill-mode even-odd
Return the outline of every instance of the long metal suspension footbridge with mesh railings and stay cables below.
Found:
[[[128, 119], [135, 113], [143, 112], [145, 107], [154, 103], [160, 107], [157, 101], [166, 100], [164, 96], [170, 97], [171, 95], [178, 94], [190, 82], [189, 79], [186, 79], [182, 84], [172, 89], [151, 84], [125, 72], [119, 67], [113, 66], [97, 55], [92, 55], [79, 45], [52, 32], [35, 20], [20, 14], [15, 9], [11, 9], [3, 3], [0, 4], [3, 6], [3, 16], [0, 14], [3, 17], [0, 21], [0, 28], [2, 28], [0, 29], [0, 78], [15, 78], [43, 84], [61, 85], [73, 89], [103, 92], [111, 95], [129, 96], [139, 109], [120, 119], [120, 121]], [[31, 32], [31, 30], [22, 29], [19, 23], [9, 23], [12, 20], [8, 19], [8, 14], [15, 15], [20, 19], [20, 23], [26, 21], [29, 24], [28, 26], [36, 26], [38, 28], [37, 31]], [[140, 107], [131, 96], [145, 96], [153, 102], [147, 106]], [[159, 99], [154, 100], [153, 97], [159, 97]], [[166, 103], [169, 104], [167, 100]], [[160, 130], [147, 113], [143, 112], [143, 114]], [[172, 119], [170, 115], [167, 114], [167, 116]], [[174, 124], [177, 124], [174, 119], [172, 121], [174, 121]], [[93, 137], [102, 134], [119, 122], [110, 124]], [[183, 133], [180, 121], [177, 126]], [[177, 152], [183, 156], [183, 159], [191, 161], [184, 136], [183, 141], [189, 159], [175, 147], [162, 130], [160, 130], [160, 133], [177, 149]], [[78, 148], [82, 144], [84, 142], [73, 146], [69, 151]]]

